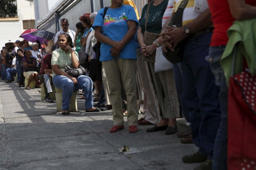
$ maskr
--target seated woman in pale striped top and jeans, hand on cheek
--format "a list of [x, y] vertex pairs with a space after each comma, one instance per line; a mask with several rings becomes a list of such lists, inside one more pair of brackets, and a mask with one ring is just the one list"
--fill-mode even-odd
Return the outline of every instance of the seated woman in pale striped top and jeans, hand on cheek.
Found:
[[70, 35], [63, 33], [58, 36], [59, 49], [52, 53], [52, 82], [56, 88], [62, 89], [62, 115], [69, 115], [69, 104], [75, 89], [83, 89], [85, 97], [86, 112], [98, 112], [93, 107], [92, 80], [88, 76], [80, 75], [77, 78], [64, 72], [64, 66], [71, 65], [78, 68], [79, 60], [76, 51], [72, 48], [74, 44]]

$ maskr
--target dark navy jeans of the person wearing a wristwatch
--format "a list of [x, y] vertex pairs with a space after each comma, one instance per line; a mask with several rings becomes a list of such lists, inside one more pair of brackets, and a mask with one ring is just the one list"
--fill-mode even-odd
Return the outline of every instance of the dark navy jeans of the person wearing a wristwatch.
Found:
[[212, 33], [190, 37], [182, 60], [184, 98], [190, 115], [192, 139], [201, 154], [212, 159], [215, 137], [220, 124], [220, 89], [215, 85], [209, 63]]

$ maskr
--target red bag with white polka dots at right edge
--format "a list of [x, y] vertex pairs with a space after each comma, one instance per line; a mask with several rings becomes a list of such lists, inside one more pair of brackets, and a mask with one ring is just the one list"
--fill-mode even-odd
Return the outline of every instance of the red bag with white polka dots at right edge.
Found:
[[230, 78], [228, 170], [256, 170], [256, 76], [246, 71]]

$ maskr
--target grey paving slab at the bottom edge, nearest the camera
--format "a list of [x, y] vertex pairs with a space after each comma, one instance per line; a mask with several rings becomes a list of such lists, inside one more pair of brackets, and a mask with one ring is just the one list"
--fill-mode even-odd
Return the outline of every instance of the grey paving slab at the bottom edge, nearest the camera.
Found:
[[[110, 168], [111, 167], [111, 168]], [[132, 162], [127, 156], [117, 153], [80, 156], [77, 158], [64, 158], [58, 160], [38, 161], [11, 167], [10, 170], [143, 170]]]

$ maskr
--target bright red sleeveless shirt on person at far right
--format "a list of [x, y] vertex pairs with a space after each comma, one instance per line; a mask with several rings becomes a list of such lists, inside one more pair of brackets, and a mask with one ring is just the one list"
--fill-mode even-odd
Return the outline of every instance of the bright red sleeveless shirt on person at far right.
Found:
[[[246, 4], [256, 5], [256, 0], [245, 0]], [[226, 45], [228, 43], [227, 30], [235, 19], [232, 17], [228, 0], [208, 0], [212, 14], [214, 31], [210, 46]]]

